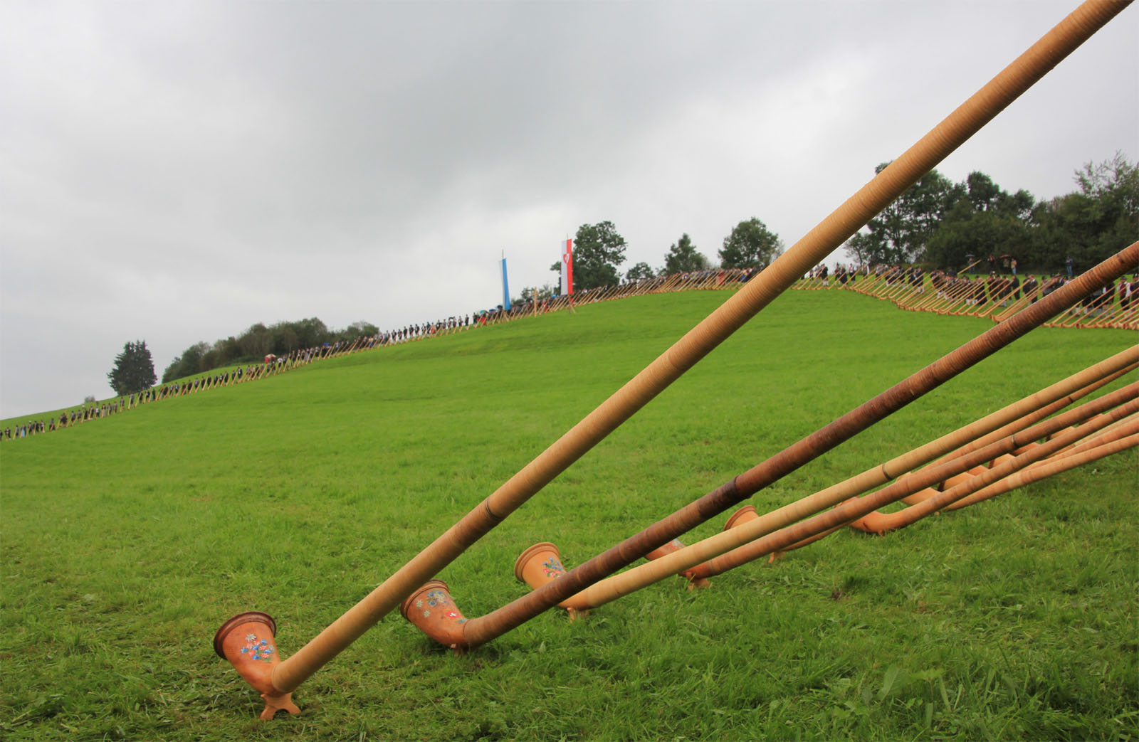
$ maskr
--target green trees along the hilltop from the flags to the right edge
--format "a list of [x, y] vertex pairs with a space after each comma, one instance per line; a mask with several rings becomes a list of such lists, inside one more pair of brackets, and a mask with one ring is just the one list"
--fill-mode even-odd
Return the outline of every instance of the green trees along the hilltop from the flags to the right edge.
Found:
[[[875, 168], [880, 173], [890, 163]], [[1009, 192], [974, 171], [953, 183], [929, 171], [844, 245], [860, 265], [921, 265], [959, 270], [989, 255], [1015, 257], [1026, 270], [1059, 272], [1068, 257], [1088, 267], [1139, 236], [1139, 168], [1122, 152], [1075, 171], [1077, 190], [1036, 201], [1029, 191]], [[613, 222], [582, 224], [574, 239], [575, 289], [621, 282], [625, 239]], [[628, 281], [708, 269], [767, 267], [784, 252], [779, 234], [756, 217], [724, 237], [718, 262], [700, 253], [688, 233], [664, 254], [664, 265], [634, 264]], [[972, 257], [970, 257], [972, 256]], [[983, 263], [982, 263], [983, 264]], [[560, 272], [562, 263], [550, 266]], [[521, 299], [543, 300], [550, 285], [523, 289]]]

